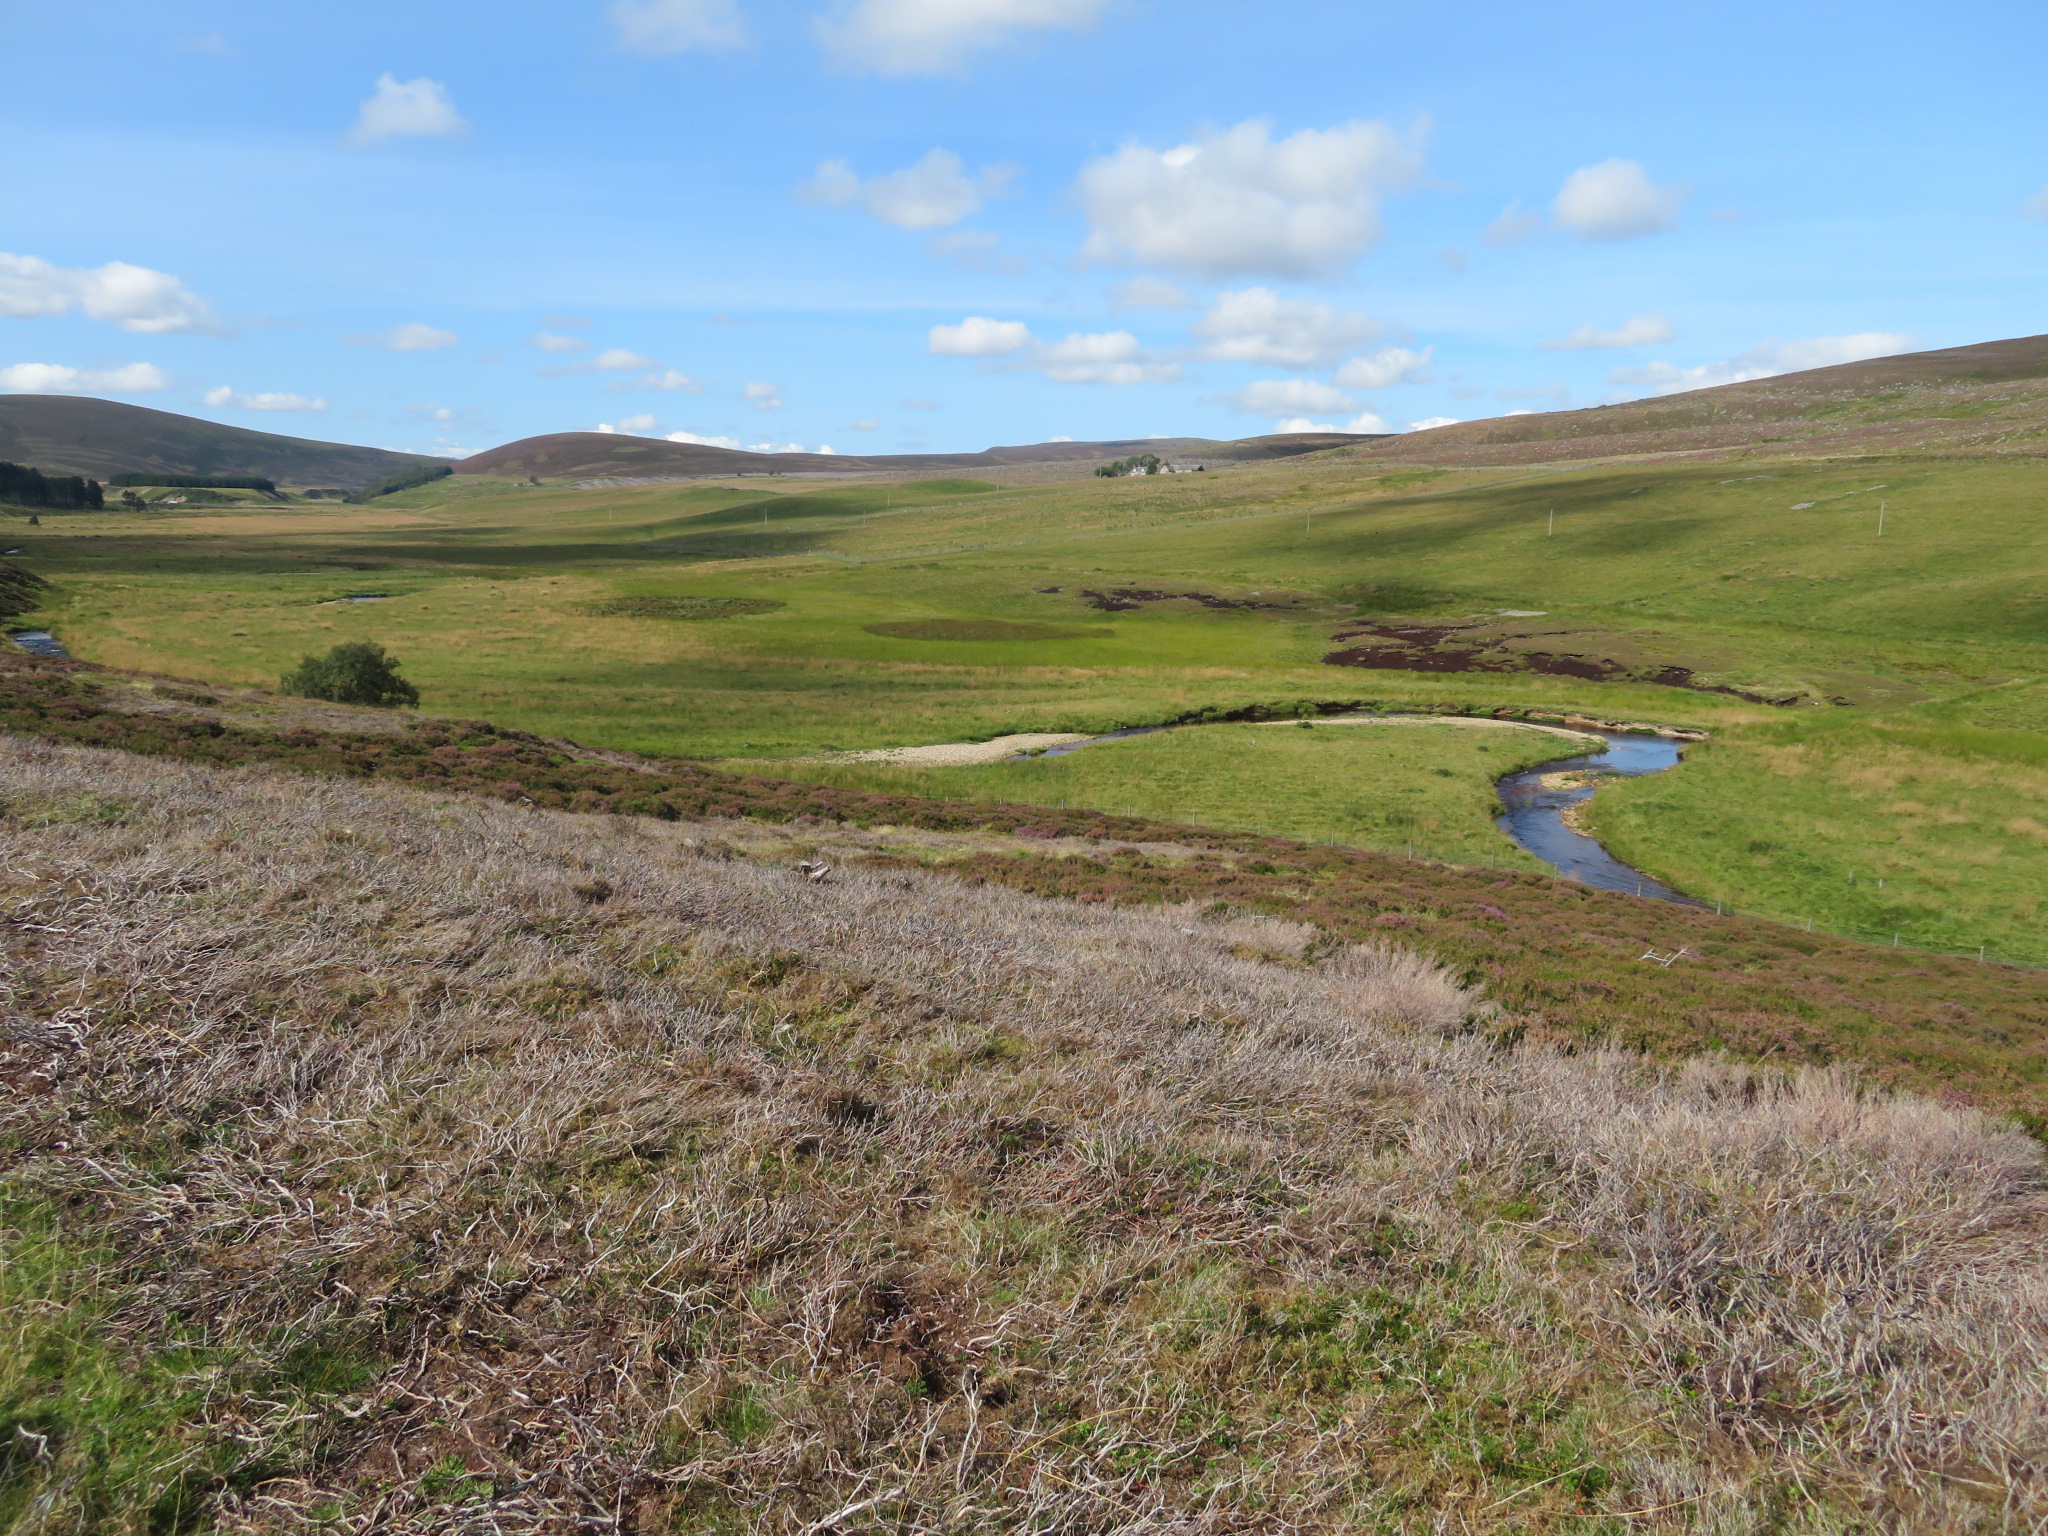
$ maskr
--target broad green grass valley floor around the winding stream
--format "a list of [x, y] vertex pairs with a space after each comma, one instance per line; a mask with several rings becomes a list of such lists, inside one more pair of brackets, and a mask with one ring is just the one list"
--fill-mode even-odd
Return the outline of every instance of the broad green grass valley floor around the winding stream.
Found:
[[[12, 543], [55, 582], [37, 621], [88, 659], [268, 684], [379, 639], [434, 713], [651, 754], [809, 758], [1333, 700], [1704, 727], [1714, 743], [1681, 770], [1595, 801], [1620, 856], [1751, 907], [2048, 956], [2038, 463], [1389, 473], [1343, 453], [1051, 485], [442, 481], [365, 508], [51, 514]], [[1085, 596], [1118, 590], [1210, 602]], [[1524, 647], [1808, 702], [1321, 659], [1360, 616], [1501, 610], [1526, 614]], [[1368, 752], [1329, 735], [1270, 788], [1196, 731], [891, 782], [1403, 844], [1343, 782], [1348, 758], [1321, 780], [1319, 758]], [[1391, 754], [1372, 782], [1427, 803], [1436, 848], [1505, 846], [1483, 764], [1454, 766], [1446, 797], [1430, 752], [1372, 752]]]

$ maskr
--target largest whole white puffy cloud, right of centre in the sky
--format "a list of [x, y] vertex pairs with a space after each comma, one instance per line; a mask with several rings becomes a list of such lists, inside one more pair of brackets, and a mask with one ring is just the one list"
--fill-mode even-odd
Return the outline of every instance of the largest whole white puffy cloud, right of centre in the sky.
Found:
[[1204, 276], [1335, 272], [1380, 240], [1380, 197], [1409, 186], [1421, 156], [1384, 123], [1303, 129], [1274, 141], [1239, 123], [1194, 143], [1126, 143], [1081, 168], [1081, 254]]

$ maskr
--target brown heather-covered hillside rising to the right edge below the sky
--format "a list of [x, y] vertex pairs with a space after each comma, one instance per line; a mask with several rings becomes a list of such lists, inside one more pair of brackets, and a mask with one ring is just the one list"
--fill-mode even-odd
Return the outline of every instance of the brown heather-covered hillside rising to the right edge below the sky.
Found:
[[1774, 453], [2048, 453], [2048, 336], [1843, 362], [1626, 406], [1460, 422], [1366, 453], [1454, 465], [1765, 444]]

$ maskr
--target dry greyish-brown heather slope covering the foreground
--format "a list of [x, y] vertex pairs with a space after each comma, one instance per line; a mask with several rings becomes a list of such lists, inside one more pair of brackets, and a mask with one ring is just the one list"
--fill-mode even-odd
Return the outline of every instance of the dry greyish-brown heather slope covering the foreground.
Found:
[[209, 1389], [291, 1462], [223, 1528], [2048, 1513], [2042, 1157], [1976, 1112], [1503, 1051], [1270, 920], [18, 739], [0, 797], [8, 1184], [137, 1358], [369, 1368]]

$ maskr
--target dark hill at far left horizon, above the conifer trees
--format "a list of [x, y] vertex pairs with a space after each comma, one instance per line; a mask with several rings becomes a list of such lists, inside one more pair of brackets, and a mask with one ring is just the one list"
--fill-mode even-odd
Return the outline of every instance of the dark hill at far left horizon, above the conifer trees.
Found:
[[313, 442], [80, 395], [0, 395], [0, 459], [45, 475], [264, 475], [356, 489], [416, 465], [416, 453]]

